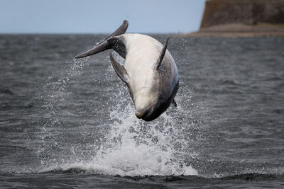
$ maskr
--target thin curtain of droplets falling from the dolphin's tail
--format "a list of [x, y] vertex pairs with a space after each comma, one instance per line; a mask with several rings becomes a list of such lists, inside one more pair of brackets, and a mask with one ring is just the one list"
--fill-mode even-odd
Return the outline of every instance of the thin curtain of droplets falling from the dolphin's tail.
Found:
[[[42, 166], [53, 164], [56, 156], [54, 149], [62, 148], [60, 138], [62, 137], [62, 115], [70, 114], [70, 111], [64, 110], [67, 101], [71, 98], [70, 86], [74, 78], [82, 74], [83, 64], [86, 59], [80, 61], [66, 62], [64, 69], [60, 69], [55, 74], [48, 77], [43, 86], [43, 125], [38, 133], [40, 145], [37, 156], [41, 159]], [[72, 151], [72, 149], [71, 149]]]

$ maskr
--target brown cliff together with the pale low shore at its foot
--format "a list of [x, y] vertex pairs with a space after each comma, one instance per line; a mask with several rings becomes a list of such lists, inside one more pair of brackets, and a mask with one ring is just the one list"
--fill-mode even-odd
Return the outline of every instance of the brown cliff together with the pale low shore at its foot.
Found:
[[193, 37], [284, 37], [284, 0], [207, 0]]

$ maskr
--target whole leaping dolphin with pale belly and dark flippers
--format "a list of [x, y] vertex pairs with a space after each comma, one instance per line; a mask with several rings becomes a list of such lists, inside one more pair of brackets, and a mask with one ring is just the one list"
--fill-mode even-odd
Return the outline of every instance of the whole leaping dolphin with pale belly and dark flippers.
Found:
[[125, 59], [124, 66], [109, 52], [112, 67], [129, 88], [136, 110], [136, 117], [145, 121], [155, 120], [170, 103], [174, 103], [178, 91], [178, 69], [170, 52], [168, 40], [162, 45], [148, 35], [127, 33], [128, 21], [99, 44], [75, 58], [87, 57], [113, 49]]

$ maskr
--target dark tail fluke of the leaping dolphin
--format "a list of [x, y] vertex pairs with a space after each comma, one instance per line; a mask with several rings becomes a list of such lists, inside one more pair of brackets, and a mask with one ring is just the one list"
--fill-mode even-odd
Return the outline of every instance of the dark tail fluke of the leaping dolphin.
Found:
[[129, 22], [125, 20], [124, 23], [122, 23], [119, 26], [119, 28], [117, 28], [114, 31], [114, 33], [111, 33], [111, 35], [108, 35], [106, 38], [104, 38], [104, 40], [99, 42], [99, 45], [97, 45], [96, 47], [94, 47], [90, 50], [87, 50], [86, 52], [83, 52], [80, 55], [77, 55], [75, 57], [75, 59], [82, 58], [82, 57], [88, 57], [89, 55], [94, 55], [94, 54], [97, 54], [97, 53], [102, 52], [104, 50], [109, 50], [111, 48], [111, 44], [109, 43], [108, 39], [115, 37], [117, 35], [124, 34], [128, 27], [129, 27]]

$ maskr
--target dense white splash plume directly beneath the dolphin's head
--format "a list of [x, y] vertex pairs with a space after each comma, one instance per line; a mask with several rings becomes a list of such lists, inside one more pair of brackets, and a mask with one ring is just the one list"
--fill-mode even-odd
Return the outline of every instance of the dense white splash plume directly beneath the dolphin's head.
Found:
[[[182, 159], [182, 151], [175, 150], [180, 139], [171, 135], [173, 129], [168, 115], [162, 118], [162, 124], [146, 123], [137, 120], [130, 105], [125, 112], [114, 110], [109, 134], [92, 161], [77, 161], [51, 166], [44, 171], [82, 169], [93, 173], [119, 176], [146, 175], [197, 175], [197, 171]], [[165, 120], [171, 122], [165, 126]], [[173, 120], [172, 120], [173, 121]], [[183, 156], [192, 154], [184, 153]]]

